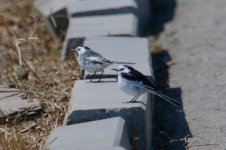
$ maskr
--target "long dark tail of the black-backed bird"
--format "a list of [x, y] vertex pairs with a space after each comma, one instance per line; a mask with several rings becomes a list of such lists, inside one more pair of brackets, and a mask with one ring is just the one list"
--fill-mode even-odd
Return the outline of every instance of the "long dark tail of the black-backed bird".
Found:
[[163, 100], [167, 101], [168, 103], [174, 105], [175, 107], [177, 108], [180, 108], [181, 107], [181, 103], [173, 98], [170, 98], [169, 96], [163, 94], [162, 92], [160, 91], [153, 91], [151, 90], [150, 93], [162, 98]]

